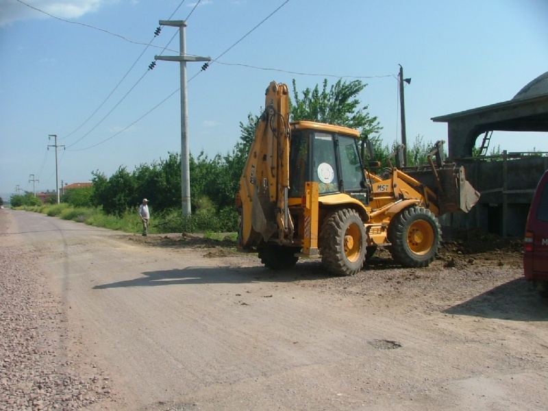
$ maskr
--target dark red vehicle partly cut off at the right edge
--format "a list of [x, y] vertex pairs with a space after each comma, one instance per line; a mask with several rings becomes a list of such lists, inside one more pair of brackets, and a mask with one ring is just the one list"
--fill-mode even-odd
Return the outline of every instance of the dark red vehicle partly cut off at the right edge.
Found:
[[523, 275], [541, 297], [548, 297], [548, 170], [536, 186], [523, 245]]

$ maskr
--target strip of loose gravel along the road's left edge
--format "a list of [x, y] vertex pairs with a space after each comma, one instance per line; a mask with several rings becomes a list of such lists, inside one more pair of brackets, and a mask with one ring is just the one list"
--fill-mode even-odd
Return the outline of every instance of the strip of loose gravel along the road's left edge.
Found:
[[40, 253], [8, 236], [0, 210], [0, 410], [78, 410], [108, 403], [110, 377], [73, 343], [63, 303], [41, 273]]

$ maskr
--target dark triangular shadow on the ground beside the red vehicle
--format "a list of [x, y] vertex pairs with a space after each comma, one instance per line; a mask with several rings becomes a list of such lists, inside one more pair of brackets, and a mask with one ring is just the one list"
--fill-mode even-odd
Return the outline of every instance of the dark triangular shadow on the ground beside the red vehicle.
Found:
[[501, 284], [444, 311], [446, 314], [511, 321], [548, 321], [548, 299], [524, 278]]

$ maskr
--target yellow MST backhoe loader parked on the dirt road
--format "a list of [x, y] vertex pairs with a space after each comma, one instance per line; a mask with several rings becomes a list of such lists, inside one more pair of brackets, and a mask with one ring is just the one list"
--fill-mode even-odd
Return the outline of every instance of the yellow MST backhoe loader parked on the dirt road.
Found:
[[371, 145], [357, 130], [289, 123], [285, 84], [269, 85], [265, 107], [236, 208], [238, 249], [257, 252], [270, 269], [319, 256], [328, 271], [354, 275], [377, 247], [403, 266], [427, 266], [440, 247], [437, 216], [468, 212], [479, 199], [464, 169], [445, 163], [440, 143], [428, 168], [412, 170], [417, 177], [398, 167], [398, 151], [396, 166], [377, 175], [369, 171], [379, 165]]

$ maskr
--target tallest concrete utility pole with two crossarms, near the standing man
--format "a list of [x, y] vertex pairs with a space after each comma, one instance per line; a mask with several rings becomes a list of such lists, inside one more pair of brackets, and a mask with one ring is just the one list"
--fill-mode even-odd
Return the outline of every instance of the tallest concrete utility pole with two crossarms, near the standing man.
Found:
[[186, 96], [186, 62], [209, 62], [209, 57], [186, 55], [184, 29], [186, 21], [160, 20], [160, 25], [179, 27], [179, 55], [155, 55], [154, 60], [179, 62], [181, 75], [181, 203], [182, 215], [189, 216], [190, 208], [190, 168], [188, 166], [188, 108]]

